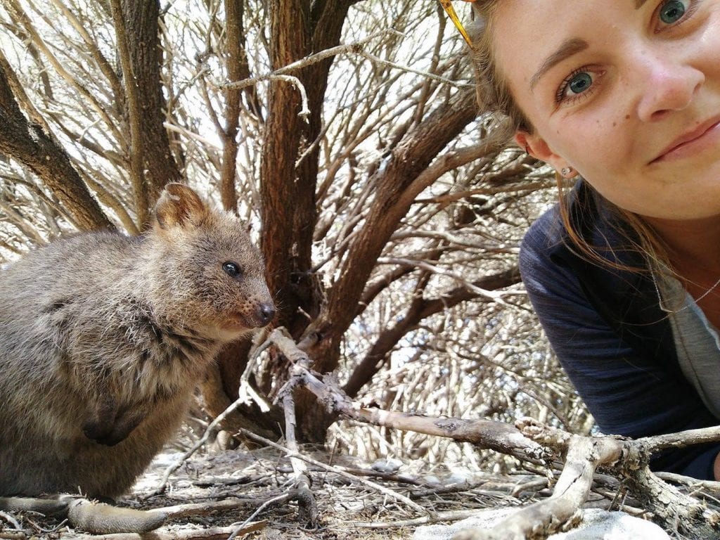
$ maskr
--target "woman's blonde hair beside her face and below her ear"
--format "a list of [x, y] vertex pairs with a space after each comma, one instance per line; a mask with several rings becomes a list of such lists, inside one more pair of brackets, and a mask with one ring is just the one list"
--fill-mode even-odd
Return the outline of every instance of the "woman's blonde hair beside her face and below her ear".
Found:
[[[474, 23], [469, 26], [468, 30], [473, 43], [472, 63], [476, 76], [477, 102], [482, 112], [492, 114], [494, 117], [495, 130], [500, 140], [503, 143], [509, 143], [516, 131], [533, 133], [534, 127], [518, 107], [503, 72], [495, 62], [492, 35], [494, 34], [494, 15], [499, 3], [500, 0], [475, 1], [472, 4]], [[595, 196], [599, 197], [606, 205], [614, 218], [613, 222], [621, 224], [621, 233], [627, 241], [626, 246], [622, 246], [622, 249], [641, 252], [649, 265], [639, 268], [621, 264], [613, 256], [612, 246], [593, 246], [588, 243], [570, 216], [572, 199], [570, 194], [565, 193], [563, 181], [559, 175], [557, 175], [557, 181], [562, 225], [573, 244], [571, 247], [579, 251], [582, 256], [595, 264], [612, 266], [621, 270], [649, 271], [652, 266], [655, 266], [653, 263], [659, 261], [665, 266], [670, 266], [667, 248], [652, 227], [641, 216], [617, 207], [597, 192], [595, 192]]]

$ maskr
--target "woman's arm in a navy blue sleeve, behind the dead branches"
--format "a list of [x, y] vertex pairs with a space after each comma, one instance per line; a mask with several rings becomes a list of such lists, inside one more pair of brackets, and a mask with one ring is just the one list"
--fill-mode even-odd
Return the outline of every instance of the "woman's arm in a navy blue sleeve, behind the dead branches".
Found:
[[[637, 351], [595, 310], [575, 273], [552, 261], [540, 220], [528, 231], [520, 267], [528, 296], [557, 357], [604, 433], [633, 438], [718, 423], [688, 382], [653, 351]], [[642, 332], [642, 328], [638, 329]], [[653, 469], [713, 479], [720, 445], [667, 451]]]

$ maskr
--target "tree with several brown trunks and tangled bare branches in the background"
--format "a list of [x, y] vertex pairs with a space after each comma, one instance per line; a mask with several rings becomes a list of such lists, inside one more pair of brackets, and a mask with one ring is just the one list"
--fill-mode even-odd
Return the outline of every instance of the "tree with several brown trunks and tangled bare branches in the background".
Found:
[[[3, 7], [6, 260], [68, 230], [141, 233], [162, 186], [186, 181], [256, 227], [275, 324], [348, 395], [445, 414], [519, 407], [589, 429], [567, 382], [543, 376], [557, 364], [513, 287], [518, 239], [552, 179], [494, 142], [438, 5]], [[227, 348], [204, 404], [217, 415], [242, 381], [256, 398], [228, 425], [277, 434], [266, 403], [287, 359], [254, 362], [251, 343]], [[309, 393], [297, 406], [300, 438], [324, 441], [334, 418]]]

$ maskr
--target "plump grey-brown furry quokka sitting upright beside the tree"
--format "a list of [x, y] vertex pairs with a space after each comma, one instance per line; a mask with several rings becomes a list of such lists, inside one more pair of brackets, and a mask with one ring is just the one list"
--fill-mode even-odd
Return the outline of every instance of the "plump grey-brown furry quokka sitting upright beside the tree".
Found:
[[220, 346], [274, 316], [243, 224], [168, 184], [140, 238], [87, 233], [0, 272], [0, 495], [128, 490]]

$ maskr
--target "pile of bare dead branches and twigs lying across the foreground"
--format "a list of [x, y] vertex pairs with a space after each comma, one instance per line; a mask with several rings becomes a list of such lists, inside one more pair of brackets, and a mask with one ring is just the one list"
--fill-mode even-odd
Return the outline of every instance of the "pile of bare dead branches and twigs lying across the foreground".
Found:
[[[572, 523], [572, 518], [582, 508], [599, 504], [603, 508], [623, 510], [651, 519], [665, 530], [675, 531], [685, 538], [720, 536], [720, 505], [716, 503], [720, 496], [719, 482], [698, 482], [673, 474], [654, 474], [648, 467], [652, 454], [662, 449], [719, 441], [718, 429], [707, 428], [629, 440], [613, 436], [573, 435], [532, 419], [519, 420], [516, 426], [510, 426], [492, 420], [431, 418], [382, 410], [351, 400], [339, 389], [332, 374], [312, 372], [302, 345], [298, 346], [287, 332], [278, 328], [269, 334], [256, 351], [259, 354], [265, 348], [274, 347], [288, 359], [291, 366], [288, 382], [277, 397], [278, 401], [282, 401], [285, 413], [284, 444], [251, 431], [243, 430], [240, 433], [244, 438], [256, 441], [276, 453], [274, 461], [263, 471], [247, 473], [247, 464], [244, 468], [234, 464], [230, 474], [225, 477], [207, 479], [197, 474], [194, 480], [184, 482], [190, 482], [196, 490], [202, 486], [210, 487], [212, 492], [189, 490], [180, 496], [181, 504], [158, 505], [161, 501], [168, 503], [173, 500], [172, 494], [178, 492], [177, 486], [182, 483], [173, 474], [181, 467], [187, 468], [189, 459], [207, 443], [210, 434], [217, 431], [217, 426], [222, 425], [225, 415], [232, 413], [233, 407], [240, 402], [238, 400], [210, 423], [204, 436], [191, 449], [166, 467], [162, 477], [158, 476], [156, 487], [143, 495], [145, 503], [140, 504], [143, 509], [117, 508], [70, 496], [55, 500], [21, 500], [21, 503], [14, 503], [14, 507], [4, 505], [9, 511], [0, 513], [0, 521], [6, 523], [0, 531], [0, 538], [25, 539], [38, 534], [48, 539], [66, 537], [57, 536], [60, 534], [58, 531], [66, 526], [65, 521], [58, 522], [55, 528], [42, 528], [29, 517], [32, 513], [28, 511], [32, 510], [66, 517], [73, 528], [102, 535], [94, 536], [96, 539], [143, 539], [147, 537], [144, 536], [147, 531], [163, 523], [166, 523], [163, 528], [153, 532], [153, 539], [232, 539], [261, 530], [268, 526], [269, 521], [282, 521], [278, 516], [264, 521], [260, 518], [288, 503], [297, 504], [294, 523], [300, 526], [298, 530], [315, 533], [327, 533], [333, 527], [338, 528], [338, 523], [341, 523], [340, 527], [352, 523], [354, 531], [363, 528], [402, 531], [423, 523], [466, 518], [480, 508], [517, 505], [521, 509], [494, 528], [464, 531], [456, 538], [519, 540], [545, 537], [561, 526], [567, 528], [567, 524]], [[338, 417], [451, 438], [513, 456], [525, 469], [524, 476], [504, 483], [497, 478], [490, 480], [487, 475], [472, 480], [466, 478], [462, 482], [438, 483], [436, 479], [431, 482], [419, 474], [401, 474], [397, 472], [398, 464], [348, 467], [331, 464], [332, 458], [327, 454], [319, 458], [312, 457], [312, 451], [301, 448], [294, 437], [294, 395], [300, 391], [312, 392], [329, 413]], [[221, 455], [227, 457], [230, 454]], [[258, 459], [253, 457], [251, 462], [255, 467]], [[174, 482], [171, 482], [171, 477]], [[328, 477], [333, 480], [328, 480]], [[358, 500], [352, 495], [344, 501], [342, 497], [338, 500], [336, 490], [324, 489], [328, 485], [332, 486], [333, 482], [352, 485], [354, 492], [365, 490], [382, 497], [382, 503], [367, 506], [366, 500], [372, 497], [368, 495], [363, 498], [363, 510], [371, 518], [370, 521], [362, 523], [356, 512], [352, 520], [340, 519], [333, 527], [328, 525], [333, 521], [330, 516], [339, 515], [338, 505], [351, 508]], [[256, 489], [261, 484], [266, 487], [272, 485], [273, 492], [266, 489], [247, 496], [248, 485]], [[243, 496], [239, 496], [240, 492], [243, 492]], [[456, 496], [462, 500], [462, 505], [451, 509], [438, 507], [439, 496], [444, 500]], [[521, 500], [521, 496], [525, 500]], [[197, 502], [200, 499], [205, 502]], [[190, 500], [193, 502], [188, 502]], [[482, 502], [478, 503], [479, 500]], [[368, 511], [368, 508], [374, 510]], [[395, 513], [388, 511], [388, 508], [394, 508]], [[384, 513], [383, 520], [374, 514], [379, 509]], [[202, 528], [194, 526], [184, 529], [177, 525], [178, 521], [197, 521], [202, 516], [237, 515], [238, 512], [246, 517], [220, 526], [207, 526], [208, 523], [205, 523], [206, 526]], [[174, 525], [171, 524], [173, 522]], [[330, 536], [322, 534], [321, 537], [335, 538], [334, 534], [337, 531], [333, 531]], [[89, 538], [82, 534], [70, 537]]]

